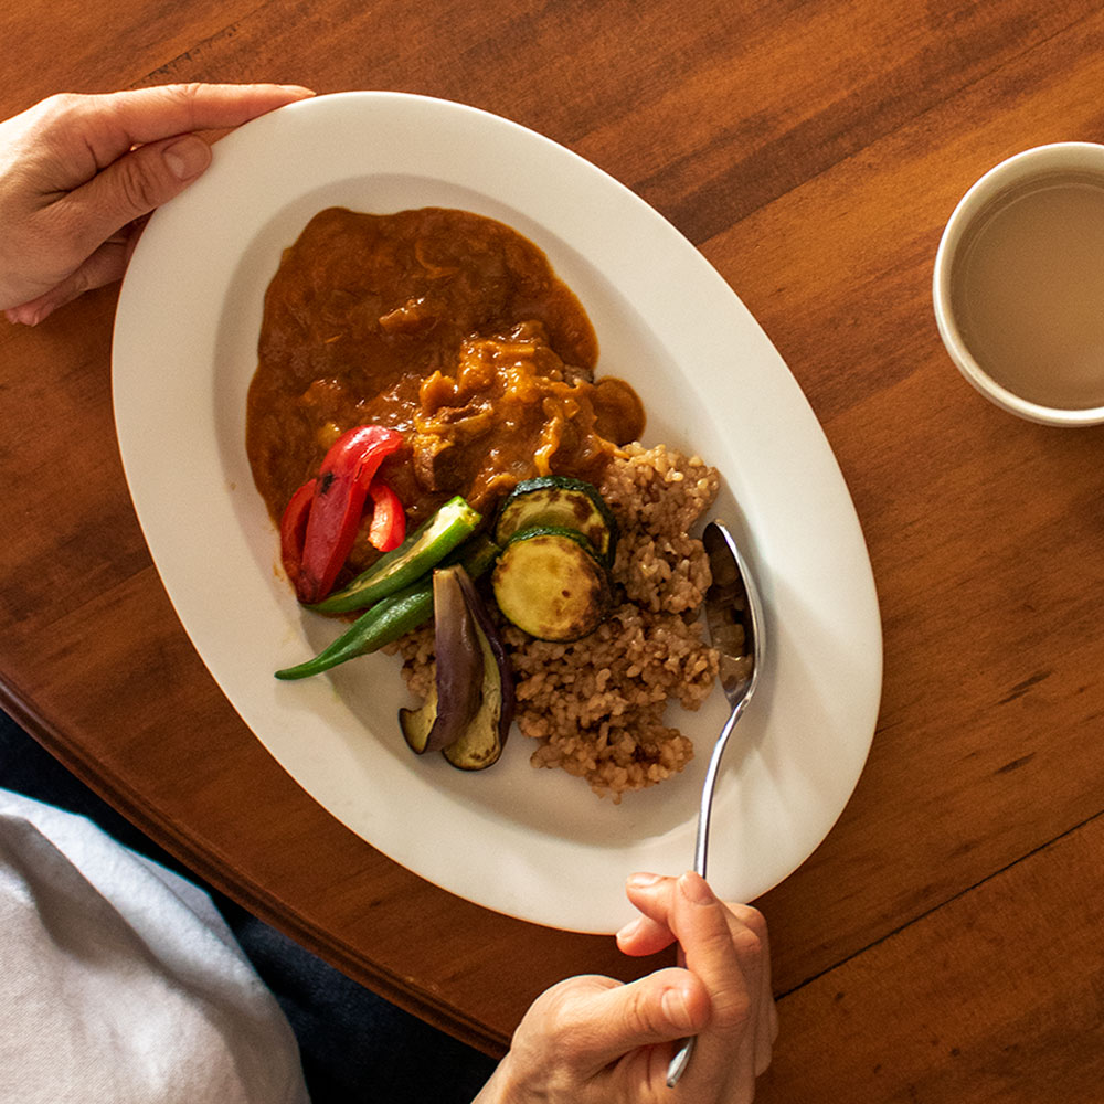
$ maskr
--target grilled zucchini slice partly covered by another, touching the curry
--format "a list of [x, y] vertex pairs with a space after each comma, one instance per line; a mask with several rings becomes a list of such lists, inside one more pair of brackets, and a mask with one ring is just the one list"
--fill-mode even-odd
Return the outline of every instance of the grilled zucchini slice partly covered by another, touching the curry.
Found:
[[506, 544], [523, 529], [549, 527], [582, 533], [605, 564], [614, 562], [617, 522], [593, 485], [566, 476], [523, 480], [499, 509], [495, 541]]

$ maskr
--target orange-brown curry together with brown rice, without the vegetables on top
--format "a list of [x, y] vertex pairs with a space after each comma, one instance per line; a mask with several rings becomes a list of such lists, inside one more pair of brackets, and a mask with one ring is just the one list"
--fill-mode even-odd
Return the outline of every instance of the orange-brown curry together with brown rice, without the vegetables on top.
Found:
[[[688, 533], [719, 476], [697, 457], [639, 444], [639, 400], [617, 380], [595, 381], [596, 359], [583, 308], [510, 227], [442, 209], [330, 209], [285, 251], [269, 286], [246, 445], [276, 519], [340, 433], [369, 422], [407, 440], [380, 470], [412, 523], [454, 493], [490, 516], [533, 476], [597, 487], [619, 529], [605, 620], [574, 643], [539, 640], [489, 605], [532, 764], [562, 767], [617, 802], [693, 755], [665, 712], [671, 700], [697, 709], [716, 675], [700, 619], [709, 561]], [[373, 554], [359, 540], [346, 577]], [[433, 625], [390, 650], [425, 698]]]

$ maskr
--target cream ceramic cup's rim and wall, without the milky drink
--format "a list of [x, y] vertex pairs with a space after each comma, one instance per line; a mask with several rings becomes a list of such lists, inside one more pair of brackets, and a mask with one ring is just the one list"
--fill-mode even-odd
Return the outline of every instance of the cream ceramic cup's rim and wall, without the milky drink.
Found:
[[[1011, 189], [1029, 189], [1034, 180], [1064, 173], [1090, 173], [1104, 184], [1104, 146], [1069, 141], [1037, 146], [1001, 161], [985, 173], [958, 202], [947, 222], [935, 257], [932, 295], [935, 320], [943, 343], [962, 374], [988, 400], [1011, 414], [1045, 425], [1084, 426], [1104, 423], [1104, 406], [1068, 408], [1050, 406], [1016, 394], [992, 378], [967, 348], [955, 317], [953, 277], [955, 261], [979, 216], [991, 211]], [[960, 278], [960, 277], [959, 277]], [[1104, 301], [1101, 304], [1104, 311]], [[1102, 365], [1104, 376], [1104, 365]], [[1102, 383], [1104, 386], [1104, 383]]]

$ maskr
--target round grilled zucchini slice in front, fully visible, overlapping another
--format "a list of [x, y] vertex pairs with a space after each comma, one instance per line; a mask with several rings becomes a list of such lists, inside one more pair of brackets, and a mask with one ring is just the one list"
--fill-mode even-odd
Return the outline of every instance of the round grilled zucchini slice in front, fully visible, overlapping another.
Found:
[[502, 615], [540, 640], [577, 640], [609, 611], [609, 572], [577, 530], [522, 529], [507, 542], [491, 575]]

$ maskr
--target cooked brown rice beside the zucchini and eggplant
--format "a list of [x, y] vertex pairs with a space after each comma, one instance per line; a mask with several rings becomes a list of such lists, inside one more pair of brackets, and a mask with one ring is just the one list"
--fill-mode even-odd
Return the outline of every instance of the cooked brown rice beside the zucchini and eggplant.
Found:
[[[669, 700], [696, 710], [716, 676], [699, 617], [710, 583], [701, 541], [688, 531], [712, 503], [716, 470], [664, 445], [623, 449], [599, 491], [620, 539], [613, 566], [619, 602], [573, 644], [534, 640], [502, 623], [517, 691], [514, 719], [537, 741], [531, 762], [585, 778], [614, 802], [681, 771], [691, 741], [664, 723]], [[497, 615], [497, 611], [495, 612]], [[410, 690], [434, 678], [433, 627], [399, 645]]]

